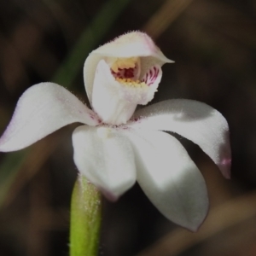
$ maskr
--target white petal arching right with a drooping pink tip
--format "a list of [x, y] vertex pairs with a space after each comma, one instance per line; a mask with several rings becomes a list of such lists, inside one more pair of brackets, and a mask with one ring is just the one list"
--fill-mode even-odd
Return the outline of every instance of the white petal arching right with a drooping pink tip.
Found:
[[202, 102], [169, 100], [159, 102], [135, 113], [129, 126], [136, 129], [177, 132], [198, 144], [230, 178], [229, 125], [216, 109]]

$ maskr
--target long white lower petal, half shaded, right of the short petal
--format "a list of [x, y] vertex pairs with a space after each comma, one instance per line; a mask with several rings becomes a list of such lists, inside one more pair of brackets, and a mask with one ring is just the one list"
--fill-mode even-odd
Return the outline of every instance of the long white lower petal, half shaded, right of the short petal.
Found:
[[125, 131], [137, 163], [137, 181], [154, 206], [176, 224], [197, 230], [207, 215], [205, 181], [175, 137], [163, 131]]

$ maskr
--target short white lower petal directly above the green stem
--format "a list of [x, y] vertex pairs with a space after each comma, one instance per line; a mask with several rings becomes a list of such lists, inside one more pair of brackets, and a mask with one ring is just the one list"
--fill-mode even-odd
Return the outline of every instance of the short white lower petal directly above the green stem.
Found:
[[136, 182], [131, 143], [108, 127], [79, 126], [73, 131], [74, 162], [85, 177], [112, 198]]

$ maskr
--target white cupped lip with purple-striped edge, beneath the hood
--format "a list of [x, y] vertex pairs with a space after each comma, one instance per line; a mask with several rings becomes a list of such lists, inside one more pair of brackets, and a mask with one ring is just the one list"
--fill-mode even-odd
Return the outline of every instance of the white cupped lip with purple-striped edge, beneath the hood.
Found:
[[116, 80], [108, 64], [99, 61], [92, 92], [92, 108], [102, 121], [109, 125], [125, 124], [134, 113], [137, 104], [147, 104], [154, 97], [154, 93], [162, 72], [160, 67], [153, 67], [145, 76], [148, 84], [136, 82], [119, 82]]

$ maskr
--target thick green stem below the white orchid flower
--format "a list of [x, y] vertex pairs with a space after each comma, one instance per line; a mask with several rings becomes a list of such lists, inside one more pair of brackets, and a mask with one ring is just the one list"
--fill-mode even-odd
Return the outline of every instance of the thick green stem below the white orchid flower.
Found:
[[102, 199], [96, 187], [80, 176], [71, 203], [70, 256], [96, 256], [102, 219]]

